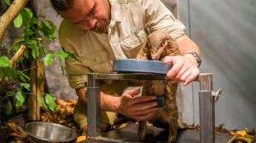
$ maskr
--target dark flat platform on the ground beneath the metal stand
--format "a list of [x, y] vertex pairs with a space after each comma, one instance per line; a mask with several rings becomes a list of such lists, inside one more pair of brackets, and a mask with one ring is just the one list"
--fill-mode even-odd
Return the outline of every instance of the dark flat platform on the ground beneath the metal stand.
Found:
[[[84, 142], [126, 142], [126, 143], [140, 143], [137, 135], [137, 124], [131, 124], [123, 129], [115, 129], [106, 134], [102, 134], [102, 138], [97, 141], [84, 141]], [[147, 127], [146, 140], [144, 142], [167, 142], [168, 133], [165, 129], [160, 129], [152, 126]], [[230, 143], [235, 139], [230, 134], [216, 133], [217, 143]], [[200, 132], [184, 129], [179, 130], [177, 133], [176, 143], [199, 143], [200, 142]]]

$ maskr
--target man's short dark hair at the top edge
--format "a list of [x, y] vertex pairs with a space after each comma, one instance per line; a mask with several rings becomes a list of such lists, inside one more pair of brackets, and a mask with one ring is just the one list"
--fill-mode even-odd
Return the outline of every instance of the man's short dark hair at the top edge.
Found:
[[74, 0], [50, 0], [54, 9], [59, 13], [72, 7]]

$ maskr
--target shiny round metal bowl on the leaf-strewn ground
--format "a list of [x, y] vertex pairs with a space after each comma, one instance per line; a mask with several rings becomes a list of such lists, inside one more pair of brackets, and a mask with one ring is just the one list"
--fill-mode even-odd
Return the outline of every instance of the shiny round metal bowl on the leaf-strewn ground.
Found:
[[26, 131], [29, 141], [36, 143], [70, 142], [77, 137], [72, 129], [58, 123], [27, 123]]

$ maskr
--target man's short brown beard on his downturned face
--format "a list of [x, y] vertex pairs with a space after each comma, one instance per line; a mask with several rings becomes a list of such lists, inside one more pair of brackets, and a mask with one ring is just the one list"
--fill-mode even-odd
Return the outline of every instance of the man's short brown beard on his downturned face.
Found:
[[96, 31], [98, 33], [108, 33], [108, 26], [109, 26], [110, 20], [104, 19], [101, 21], [96, 22], [96, 25], [91, 31]]

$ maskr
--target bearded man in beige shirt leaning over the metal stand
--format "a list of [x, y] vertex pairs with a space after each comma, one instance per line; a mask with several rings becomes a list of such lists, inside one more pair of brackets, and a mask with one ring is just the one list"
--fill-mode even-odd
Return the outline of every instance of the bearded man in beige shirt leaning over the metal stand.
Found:
[[[177, 39], [181, 55], [165, 58], [164, 62], [173, 64], [167, 79], [187, 85], [199, 74], [197, 45], [184, 34], [183, 24], [160, 0], [51, 0], [51, 3], [65, 18], [59, 31], [62, 48], [80, 60], [66, 60], [69, 83], [79, 96], [74, 119], [80, 128], [86, 127], [86, 74], [111, 72], [114, 59], [135, 58], [147, 41], [146, 28], [166, 31]], [[102, 112], [103, 123], [114, 122], [113, 112], [136, 120], [149, 119], [157, 112], [154, 108], [157, 103], [148, 102], [155, 99], [154, 95], [134, 98], [140, 89], [123, 93], [127, 86], [118, 81], [102, 84], [101, 108], [108, 111]]]

